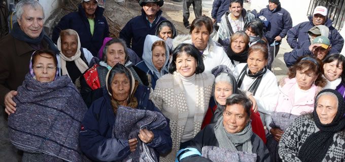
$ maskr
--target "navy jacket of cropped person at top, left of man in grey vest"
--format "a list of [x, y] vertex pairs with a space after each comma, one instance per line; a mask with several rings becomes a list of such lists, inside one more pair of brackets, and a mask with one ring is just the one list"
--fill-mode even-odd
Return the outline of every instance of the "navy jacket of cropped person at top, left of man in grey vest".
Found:
[[229, 11], [230, 1], [228, 0], [215, 0], [212, 5], [211, 16], [213, 19], [220, 23], [222, 16]]

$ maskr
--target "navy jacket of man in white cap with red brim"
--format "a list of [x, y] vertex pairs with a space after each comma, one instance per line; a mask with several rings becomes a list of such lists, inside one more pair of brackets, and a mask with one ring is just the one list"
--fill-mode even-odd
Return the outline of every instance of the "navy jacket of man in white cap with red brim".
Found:
[[[309, 41], [307, 31], [315, 25], [313, 24], [313, 17], [312, 16], [309, 16], [308, 19], [309, 19], [309, 21], [299, 23], [296, 26], [292, 27], [288, 31], [287, 41], [288, 41], [288, 44], [290, 45], [290, 47], [292, 49], [295, 49], [295, 48], [300, 49], [303, 47], [302, 43], [304, 41]], [[332, 24], [333, 24], [333, 22], [330, 19], [327, 19], [325, 24], [324, 24], [325, 26], [327, 26], [329, 28], [328, 38], [331, 41], [331, 46], [332, 46], [330, 54], [331, 53], [340, 53], [342, 46], [344, 45], [344, 39], [342, 38], [342, 36], [338, 32], [338, 30], [336, 30], [332, 26]], [[306, 49], [307, 49], [307, 47], [306, 47]]]

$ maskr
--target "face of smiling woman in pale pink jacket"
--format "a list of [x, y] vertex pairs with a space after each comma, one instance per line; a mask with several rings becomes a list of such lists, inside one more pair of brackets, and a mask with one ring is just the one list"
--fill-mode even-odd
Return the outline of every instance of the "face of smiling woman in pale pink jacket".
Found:
[[297, 85], [301, 90], [308, 90], [317, 78], [318, 75], [314, 72], [306, 72], [306, 69], [296, 70]]

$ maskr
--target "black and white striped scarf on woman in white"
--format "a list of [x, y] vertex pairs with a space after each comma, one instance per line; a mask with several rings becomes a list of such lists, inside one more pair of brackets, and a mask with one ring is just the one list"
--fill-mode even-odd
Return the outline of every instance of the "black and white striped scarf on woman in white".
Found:
[[[253, 96], [255, 96], [256, 90], [258, 90], [258, 87], [261, 83], [262, 80], [262, 76], [266, 73], [267, 71], [267, 65], [265, 65], [265, 67], [263, 69], [261, 69], [260, 71], [258, 71], [255, 74], [252, 74], [252, 72], [249, 70], [248, 68], [248, 64], [243, 68], [243, 70], [240, 72], [239, 74], [239, 79], [237, 81], [237, 86], [241, 87], [243, 80], [245, 78], [245, 75], [247, 75], [248, 77], [254, 78], [254, 82], [252, 83], [252, 85], [248, 88], [247, 91], [252, 92]], [[245, 74], [246, 73], [246, 74]]]

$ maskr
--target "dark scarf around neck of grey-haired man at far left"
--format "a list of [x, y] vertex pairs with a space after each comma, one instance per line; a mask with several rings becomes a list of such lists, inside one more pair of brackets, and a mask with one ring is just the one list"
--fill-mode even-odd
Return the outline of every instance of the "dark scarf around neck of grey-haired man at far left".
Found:
[[[59, 50], [55, 47], [53, 41], [50, 39], [50, 37], [44, 33], [44, 31], [41, 32], [40, 36], [37, 38], [31, 38], [28, 35], [26, 35], [23, 30], [20, 29], [20, 26], [18, 24], [18, 22], [13, 24], [13, 29], [11, 31], [11, 35], [20, 40], [20, 41], [24, 41], [30, 45], [41, 45], [42, 40], [44, 40], [46, 43], [48, 43], [48, 48], [52, 51], [54, 51], [55, 53], [58, 53]], [[39, 50], [39, 49], [35, 49], [35, 50]]]

